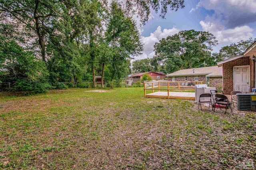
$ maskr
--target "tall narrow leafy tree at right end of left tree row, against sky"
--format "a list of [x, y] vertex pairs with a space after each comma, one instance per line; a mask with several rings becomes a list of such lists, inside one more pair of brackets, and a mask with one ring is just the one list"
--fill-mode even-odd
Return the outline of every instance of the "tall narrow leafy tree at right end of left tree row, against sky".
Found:
[[112, 81], [126, 77], [129, 71], [130, 56], [140, 54], [142, 43], [136, 23], [126, 17], [115, 2], [111, 4], [109, 16], [105, 35], [106, 43], [112, 47], [112, 59], [109, 66]]

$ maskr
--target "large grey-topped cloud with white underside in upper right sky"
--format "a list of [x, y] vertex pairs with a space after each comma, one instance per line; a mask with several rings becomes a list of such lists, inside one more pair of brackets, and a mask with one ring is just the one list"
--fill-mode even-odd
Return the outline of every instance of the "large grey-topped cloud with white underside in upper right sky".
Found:
[[236, 43], [253, 36], [253, 29], [246, 24], [256, 21], [256, 0], [200, 0], [198, 8], [214, 11], [200, 24], [219, 43]]

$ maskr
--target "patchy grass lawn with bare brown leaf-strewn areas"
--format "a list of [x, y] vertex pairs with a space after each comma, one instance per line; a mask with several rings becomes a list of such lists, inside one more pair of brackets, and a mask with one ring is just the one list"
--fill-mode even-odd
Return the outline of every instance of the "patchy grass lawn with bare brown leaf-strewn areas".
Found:
[[0, 169], [256, 169], [254, 112], [88, 90], [0, 93]]

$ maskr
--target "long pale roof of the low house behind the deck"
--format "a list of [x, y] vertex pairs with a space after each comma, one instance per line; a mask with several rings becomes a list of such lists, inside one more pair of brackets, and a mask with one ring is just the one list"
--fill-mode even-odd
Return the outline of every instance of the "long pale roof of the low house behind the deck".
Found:
[[167, 77], [171, 76], [192, 76], [192, 75], [206, 75], [206, 76], [222, 76], [222, 67], [210, 66], [200, 68], [188, 68], [184, 70], [178, 70], [167, 74]]

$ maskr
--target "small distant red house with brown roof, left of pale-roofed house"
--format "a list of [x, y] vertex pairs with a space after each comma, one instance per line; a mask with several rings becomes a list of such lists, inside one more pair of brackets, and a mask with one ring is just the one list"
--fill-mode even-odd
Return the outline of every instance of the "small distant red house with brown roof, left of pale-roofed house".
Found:
[[149, 72], [142, 72], [142, 73], [134, 73], [134, 74], [130, 74], [127, 78], [127, 80], [132, 80], [133, 83], [136, 83], [138, 81], [140, 81], [140, 79], [142, 78], [142, 76], [144, 74], [148, 74], [152, 80], [164, 80], [166, 74], [164, 72], [155, 72], [155, 71], [149, 71]]

